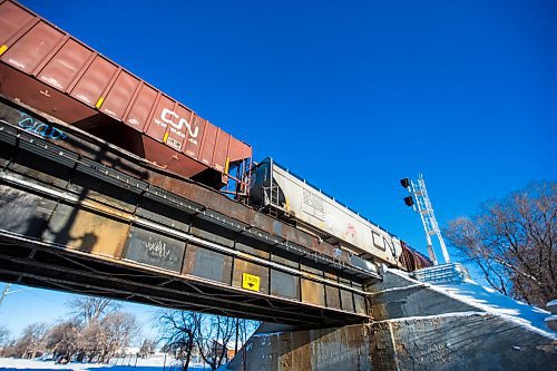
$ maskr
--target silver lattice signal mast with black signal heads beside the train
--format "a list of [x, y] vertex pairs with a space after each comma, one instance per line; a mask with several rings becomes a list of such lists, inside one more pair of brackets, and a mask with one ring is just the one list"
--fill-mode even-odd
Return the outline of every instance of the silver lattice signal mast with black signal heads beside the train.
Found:
[[[433, 265], [438, 265], [436, 252], [433, 251], [433, 245], [431, 243], [431, 236], [437, 235], [439, 244], [441, 245], [441, 252], [443, 254], [444, 263], [450, 263], [449, 252], [444, 245], [443, 237], [441, 236], [441, 231], [437, 224], [436, 214], [433, 213], [433, 206], [431, 206], [431, 201], [428, 196], [428, 189], [426, 188], [426, 180], [423, 180], [423, 175], [420, 174], [418, 177], [418, 183], [414, 184], [409, 178], [400, 179], [400, 185], [408, 189], [410, 196], [404, 197], [404, 204], [408, 207], [412, 207], [414, 212], [420, 214], [421, 223], [423, 224], [423, 231], [426, 232], [426, 240], [428, 242], [428, 253], [430, 258], [433, 261]], [[414, 202], [416, 199], [416, 202]]]

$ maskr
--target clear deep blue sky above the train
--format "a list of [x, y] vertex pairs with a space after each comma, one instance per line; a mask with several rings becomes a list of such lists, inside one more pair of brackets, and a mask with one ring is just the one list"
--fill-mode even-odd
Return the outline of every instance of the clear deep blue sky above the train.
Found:
[[399, 178], [441, 225], [556, 179], [554, 1], [22, 2], [421, 251]]

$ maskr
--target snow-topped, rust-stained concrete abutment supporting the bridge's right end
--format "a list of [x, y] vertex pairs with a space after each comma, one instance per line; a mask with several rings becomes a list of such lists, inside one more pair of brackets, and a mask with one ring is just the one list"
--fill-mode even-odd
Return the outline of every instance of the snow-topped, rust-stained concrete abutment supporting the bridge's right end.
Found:
[[479, 310], [385, 272], [370, 296], [375, 322], [257, 332], [229, 370], [557, 370], [557, 342], [505, 315]]

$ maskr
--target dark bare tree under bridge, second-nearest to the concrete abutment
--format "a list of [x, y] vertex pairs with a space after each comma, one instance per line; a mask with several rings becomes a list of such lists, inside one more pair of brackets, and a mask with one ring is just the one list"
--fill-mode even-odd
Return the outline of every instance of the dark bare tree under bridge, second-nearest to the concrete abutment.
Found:
[[155, 316], [163, 350], [172, 352], [187, 371], [195, 345], [195, 335], [206, 314], [198, 312], [162, 310]]

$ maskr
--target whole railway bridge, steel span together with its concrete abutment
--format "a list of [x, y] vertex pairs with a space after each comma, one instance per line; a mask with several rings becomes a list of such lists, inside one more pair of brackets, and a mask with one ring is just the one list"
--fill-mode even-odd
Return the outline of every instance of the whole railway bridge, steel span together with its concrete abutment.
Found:
[[0, 281], [289, 325], [260, 328], [229, 370], [534, 370], [555, 360], [555, 335], [524, 320], [397, 270], [379, 274], [4, 100], [0, 166]]

